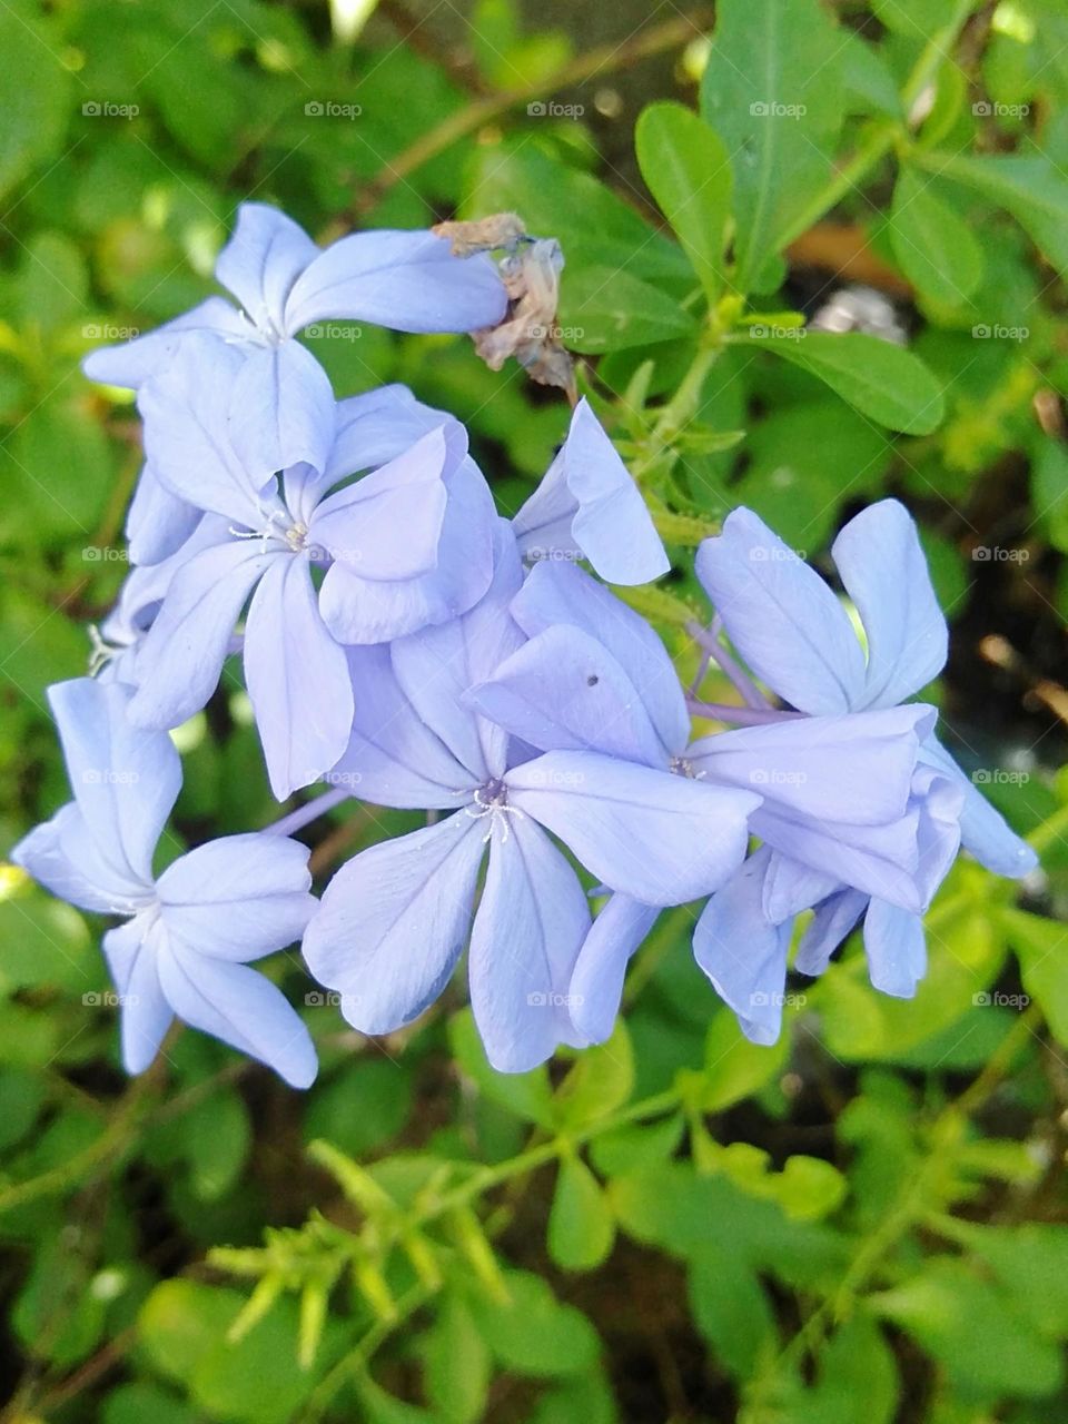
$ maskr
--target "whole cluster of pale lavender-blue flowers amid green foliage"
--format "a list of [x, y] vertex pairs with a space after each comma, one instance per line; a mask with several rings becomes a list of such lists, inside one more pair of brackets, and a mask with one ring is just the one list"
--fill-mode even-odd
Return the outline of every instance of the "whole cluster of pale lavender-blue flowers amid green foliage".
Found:
[[[866, 651], [832, 588], [731, 514], [698, 553], [715, 618], [692, 632], [702, 674], [715, 662], [742, 701], [701, 702], [701, 678], [684, 691], [601, 582], [669, 561], [585, 400], [508, 520], [460, 422], [400, 386], [336, 400], [295, 339], [353, 319], [486, 343], [517, 320], [488, 255], [423, 232], [320, 251], [246, 205], [216, 275], [239, 308], [211, 298], [87, 360], [144, 419], [132, 568], [94, 675], [50, 692], [74, 799], [13, 852], [53, 893], [121, 917], [104, 953], [131, 1072], [178, 1017], [309, 1084], [303, 1021], [248, 967], [298, 940], [367, 1034], [422, 1014], [467, 948], [488, 1058], [524, 1071], [608, 1037], [629, 957], [691, 901], [699, 965], [770, 1042], [803, 911], [799, 970], [820, 973], [863, 918], [873, 984], [909, 995], [958, 847], [1002, 874], [1034, 866], [937, 742], [934, 708], [904, 701], [938, 674], [946, 622], [900, 504], [833, 548]], [[275, 797], [330, 789], [155, 874], [181, 786], [168, 733], [228, 656]], [[695, 739], [695, 715], [728, 729]], [[316, 900], [292, 833], [350, 795], [427, 824], [356, 854]]]

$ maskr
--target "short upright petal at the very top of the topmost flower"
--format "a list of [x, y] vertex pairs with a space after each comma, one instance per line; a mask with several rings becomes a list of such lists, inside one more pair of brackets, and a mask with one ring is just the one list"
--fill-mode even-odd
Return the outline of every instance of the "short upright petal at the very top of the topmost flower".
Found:
[[318, 256], [319, 248], [292, 218], [263, 202], [242, 202], [234, 234], [215, 263], [215, 276], [256, 326], [288, 335], [286, 300], [296, 279]]

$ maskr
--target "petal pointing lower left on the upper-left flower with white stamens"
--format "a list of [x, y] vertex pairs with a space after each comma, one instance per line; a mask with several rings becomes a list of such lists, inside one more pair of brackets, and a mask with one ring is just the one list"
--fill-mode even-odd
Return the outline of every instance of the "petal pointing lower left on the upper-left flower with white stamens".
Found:
[[199, 712], [219, 682], [234, 627], [256, 580], [289, 554], [259, 540], [226, 540], [179, 570], [138, 648], [138, 689], [130, 705], [141, 726], [178, 726]]

